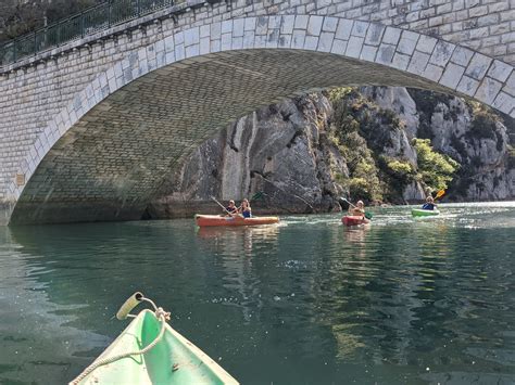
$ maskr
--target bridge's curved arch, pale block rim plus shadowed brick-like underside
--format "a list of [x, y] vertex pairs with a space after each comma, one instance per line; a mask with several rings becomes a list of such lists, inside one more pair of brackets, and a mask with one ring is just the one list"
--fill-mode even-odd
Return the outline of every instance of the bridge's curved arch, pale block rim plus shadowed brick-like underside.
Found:
[[[163, 176], [236, 118], [339, 86], [425, 88], [515, 117], [513, 66], [381, 24], [317, 15], [197, 26], [129, 53], [39, 133], [12, 222], [139, 218]], [[14, 207], [15, 206], [15, 207]]]

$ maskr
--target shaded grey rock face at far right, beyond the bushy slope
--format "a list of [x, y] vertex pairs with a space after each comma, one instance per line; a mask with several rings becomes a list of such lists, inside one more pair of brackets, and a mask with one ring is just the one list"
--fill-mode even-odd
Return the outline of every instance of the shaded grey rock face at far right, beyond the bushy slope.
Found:
[[[419, 105], [429, 92], [411, 93]], [[431, 139], [435, 150], [461, 165], [449, 189], [451, 200], [497, 201], [515, 196], [513, 153], [500, 116], [459, 98], [440, 97], [428, 118], [428, 130], [419, 130], [417, 136]]]

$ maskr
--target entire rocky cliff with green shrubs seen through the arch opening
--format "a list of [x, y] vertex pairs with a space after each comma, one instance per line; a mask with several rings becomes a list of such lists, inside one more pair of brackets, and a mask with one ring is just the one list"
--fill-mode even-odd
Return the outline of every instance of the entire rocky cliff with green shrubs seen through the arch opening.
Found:
[[340, 209], [340, 196], [405, 203], [441, 188], [449, 200], [506, 200], [514, 163], [503, 118], [479, 104], [404, 88], [337, 89], [219, 131], [167, 178], [147, 215], [219, 211], [210, 196], [255, 196], [261, 213]]

